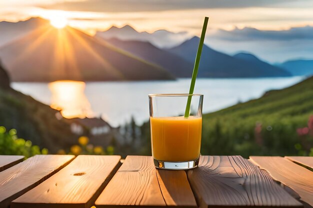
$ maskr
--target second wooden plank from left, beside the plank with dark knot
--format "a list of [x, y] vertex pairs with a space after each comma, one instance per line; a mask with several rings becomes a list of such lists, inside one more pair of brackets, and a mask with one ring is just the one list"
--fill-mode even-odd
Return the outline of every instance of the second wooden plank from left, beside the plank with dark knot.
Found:
[[74, 156], [36, 155], [0, 172], [0, 208], [37, 186], [66, 166]]

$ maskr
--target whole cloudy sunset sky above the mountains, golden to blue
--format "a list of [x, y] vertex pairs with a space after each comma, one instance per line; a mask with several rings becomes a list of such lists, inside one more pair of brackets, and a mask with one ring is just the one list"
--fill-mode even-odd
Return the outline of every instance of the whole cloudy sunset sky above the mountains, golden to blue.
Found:
[[199, 35], [209, 16], [205, 41], [214, 49], [250, 51], [272, 63], [313, 59], [313, 0], [0, 0], [0, 21], [32, 16], [63, 16], [91, 35], [125, 24]]

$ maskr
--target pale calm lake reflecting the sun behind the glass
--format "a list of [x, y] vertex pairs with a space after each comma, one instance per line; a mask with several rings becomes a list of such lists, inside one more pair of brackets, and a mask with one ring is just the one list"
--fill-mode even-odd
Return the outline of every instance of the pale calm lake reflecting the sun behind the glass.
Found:
[[[213, 112], [238, 102], [262, 96], [271, 89], [291, 86], [304, 77], [258, 79], [197, 79], [194, 93], [203, 94], [203, 113]], [[137, 124], [149, 119], [148, 94], [187, 93], [190, 79], [176, 81], [13, 82], [12, 87], [34, 99], [62, 110], [71, 117], [102, 117], [116, 127], [131, 116]], [[183, 112], [182, 112], [183, 113]]]

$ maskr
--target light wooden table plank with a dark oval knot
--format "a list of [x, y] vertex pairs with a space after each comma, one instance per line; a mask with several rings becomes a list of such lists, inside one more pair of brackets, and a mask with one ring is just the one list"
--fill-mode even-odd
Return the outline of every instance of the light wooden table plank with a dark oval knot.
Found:
[[17, 198], [11, 208], [90, 208], [119, 167], [120, 156], [80, 155]]

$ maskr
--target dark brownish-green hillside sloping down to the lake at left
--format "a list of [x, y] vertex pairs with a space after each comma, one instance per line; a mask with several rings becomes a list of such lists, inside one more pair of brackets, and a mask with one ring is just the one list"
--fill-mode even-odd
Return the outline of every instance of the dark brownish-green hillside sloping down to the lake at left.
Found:
[[77, 136], [70, 131], [70, 125], [58, 120], [51, 109], [30, 96], [13, 89], [0, 88], [0, 126], [16, 129], [18, 136], [30, 140], [39, 147], [46, 147], [50, 153], [70, 147]]

